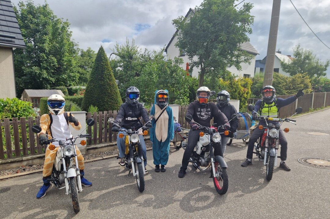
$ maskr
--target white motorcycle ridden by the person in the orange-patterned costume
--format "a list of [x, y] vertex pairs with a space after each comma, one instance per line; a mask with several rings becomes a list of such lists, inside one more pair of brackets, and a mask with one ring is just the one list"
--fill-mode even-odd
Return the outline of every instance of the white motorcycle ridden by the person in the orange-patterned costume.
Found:
[[[88, 119], [87, 125], [88, 126], [94, 125], [94, 120]], [[86, 129], [84, 129], [83, 131], [85, 130]], [[34, 125], [32, 127], [32, 131], [34, 133], [40, 133], [41, 127], [39, 125]], [[49, 136], [48, 134], [46, 135]], [[71, 195], [73, 210], [75, 213], [78, 213], [80, 211], [78, 192], [82, 192], [80, 171], [77, 165], [78, 164], [77, 151], [75, 147], [75, 145], [79, 144], [79, 143], [75, 143], [78, 137], [90, 137], [90, 136], [89, 134], [79, 134], [77, 137], [75, 138], [72, 137], [66, 139], [65, 141], [57, 140], [55, 138], [48, 140], [48, 144], [52, 142], [58, 142], [58, 145], [56, 146], [54, 144], [50, 144], [48, 146], [49, 150], [54, 150], [56, 147], [59, 147], [57, 149], [57, 155], [55, 158], [53, 171], [51, 173], [51, 178], [49, 179], [49, 182], [52, 182], [58, 189], [65, 188], [65, 194]], [[86, 141], [82, 140], [80, 144], [86, 145]], [[65, 185], [62, 186], [63, 184]]]

